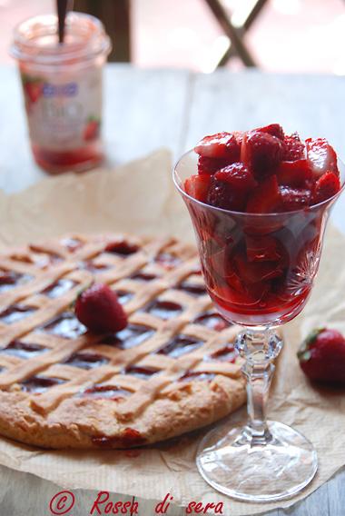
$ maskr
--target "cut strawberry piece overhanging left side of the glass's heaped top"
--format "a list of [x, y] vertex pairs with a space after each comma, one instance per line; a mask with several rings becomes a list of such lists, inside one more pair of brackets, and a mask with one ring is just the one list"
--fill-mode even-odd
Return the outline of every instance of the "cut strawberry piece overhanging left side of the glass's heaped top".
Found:
[[234, 163], [240, 159], [241, 146], [234, 134], [217, 133], [202, 138], [194, 151], [208, 158], [226, 158], [228, 163]]

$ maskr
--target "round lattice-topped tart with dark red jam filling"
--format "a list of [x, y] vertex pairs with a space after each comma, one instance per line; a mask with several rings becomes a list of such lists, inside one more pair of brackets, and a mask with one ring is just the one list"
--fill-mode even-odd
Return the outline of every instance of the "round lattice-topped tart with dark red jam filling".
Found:
[[[129, 317], [96, 334], [71, 303], [96, 281]], [[46, 448], [127, 448], [215, 422], [245, 400], [194, 248], [68, 235], [0, 256], [0, 433]]]

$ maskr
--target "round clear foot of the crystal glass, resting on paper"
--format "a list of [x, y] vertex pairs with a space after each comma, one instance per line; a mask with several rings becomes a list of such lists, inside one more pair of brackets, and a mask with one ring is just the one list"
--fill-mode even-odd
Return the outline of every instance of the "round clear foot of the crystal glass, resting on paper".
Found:
[[203, 479], [243, 501], [281, 500], [301, 491], [318, 469], [311, 442], [281, 422], [268, 426], [271, 436], [265, 444], [253, 444], [247, 427], [209, 432], [196, 459]]

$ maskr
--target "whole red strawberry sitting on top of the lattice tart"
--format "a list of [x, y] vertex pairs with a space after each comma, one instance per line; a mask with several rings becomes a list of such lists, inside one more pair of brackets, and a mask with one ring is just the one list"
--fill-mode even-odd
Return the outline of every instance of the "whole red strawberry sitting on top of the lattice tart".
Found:
[[77, 319], [92, 332], [120, 332], [127, 326], [127, 315], [108, 285], [94, 283], [77, 298]]

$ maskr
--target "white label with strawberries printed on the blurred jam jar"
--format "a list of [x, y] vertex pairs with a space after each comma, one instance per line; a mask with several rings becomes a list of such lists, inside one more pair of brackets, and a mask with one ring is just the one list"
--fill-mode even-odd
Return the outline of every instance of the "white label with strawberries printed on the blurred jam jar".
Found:
[[102, 68], [66, 74], [22, 72], [25, 107], [33, 144], [62, 151], [97, 140], [101, 129]]

